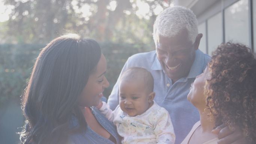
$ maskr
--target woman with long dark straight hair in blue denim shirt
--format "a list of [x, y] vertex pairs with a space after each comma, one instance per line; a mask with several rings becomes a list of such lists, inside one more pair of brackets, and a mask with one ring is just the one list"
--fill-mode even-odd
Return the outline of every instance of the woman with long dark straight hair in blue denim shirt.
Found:
[[96, 108], [109, 82], [106, 59], [92, 39], [58, 37], [42, 49], [22, 98], [22, 144], [119, 144]]

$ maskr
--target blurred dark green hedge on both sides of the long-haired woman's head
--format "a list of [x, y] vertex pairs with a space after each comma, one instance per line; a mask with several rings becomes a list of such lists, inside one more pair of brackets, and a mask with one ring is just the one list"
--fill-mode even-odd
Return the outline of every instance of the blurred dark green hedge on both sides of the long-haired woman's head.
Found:
[[[107, 59], [106, 77], [110, 86], [104, 92], [108, 97], [116, 79], [127, 60], [134, 53], [152, 50], [143, 44], [100, 43], [102, 52]], [[0, 45], [0, 105], [7, 99], [20, 98], [28, 82], [35, 59], [42, 44], [4, 44]]]

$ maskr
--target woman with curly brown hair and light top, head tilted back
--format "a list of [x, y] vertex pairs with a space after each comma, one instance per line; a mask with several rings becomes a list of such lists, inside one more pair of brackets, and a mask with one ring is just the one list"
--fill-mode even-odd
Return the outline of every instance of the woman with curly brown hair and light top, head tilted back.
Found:
[[198, 109], [200, 121], [182, 144], [217, 144], [212, 130], [220, 125], [240, 129], [244, 136], [241, 141], [245, 138], [254, 144], [256, 59], [250, 49], [238, 43], [221, 44], [204, 73], [196, 77], [188, 100]]

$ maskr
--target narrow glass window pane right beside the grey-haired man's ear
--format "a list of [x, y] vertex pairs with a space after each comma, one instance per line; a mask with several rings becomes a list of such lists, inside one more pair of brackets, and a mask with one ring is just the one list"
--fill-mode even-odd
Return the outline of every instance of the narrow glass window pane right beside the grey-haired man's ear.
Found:
[[198, 33], [203, 34], [203, 37], [200, 40], [198, 49], [200, 49], [203, 53], [206, 53], [206, 24], [205, 24], [205, 22], [198, 25]]

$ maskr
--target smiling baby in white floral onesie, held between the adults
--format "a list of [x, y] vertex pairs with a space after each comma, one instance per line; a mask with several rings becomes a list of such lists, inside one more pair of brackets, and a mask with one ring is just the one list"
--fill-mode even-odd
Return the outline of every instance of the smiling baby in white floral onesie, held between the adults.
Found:
[[122, 144], [174, 144], [175, 134], [170, 115], [153, 101], [154, 80], [144, 68], [126, 70], [119, 85], [119, 105], [112, 111], [106, 102], [98, 108], [112, 121]]

